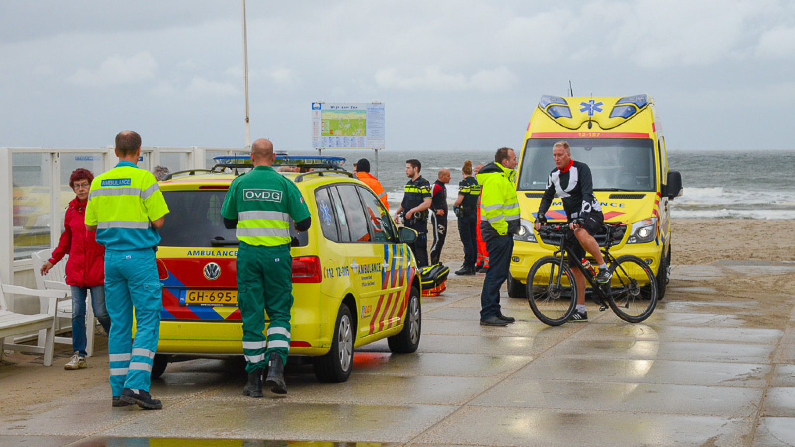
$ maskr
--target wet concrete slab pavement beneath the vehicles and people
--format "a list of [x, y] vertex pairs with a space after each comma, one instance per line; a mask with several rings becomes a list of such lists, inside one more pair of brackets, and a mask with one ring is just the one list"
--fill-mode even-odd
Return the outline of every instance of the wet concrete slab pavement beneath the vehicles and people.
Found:
[[483, 328], [479, 287], [451, 279], [425, 298], [418, 352], [368, 345], [347, 383], [293, 365], [289, 395], [251, 399], [239, 362], [172, 363], [152, 387], [163, 410], [111, 408], [107, 386], [88, 387], [0, 409], [0, 445], [795, 445], [795, 312], [758, 327], [754, 301], [693, 298], [727, 271], [795, 266], [675, 266], [645, 323], [589, 305], [590, 322], [559, 328], [504, 293], [518, 321]]

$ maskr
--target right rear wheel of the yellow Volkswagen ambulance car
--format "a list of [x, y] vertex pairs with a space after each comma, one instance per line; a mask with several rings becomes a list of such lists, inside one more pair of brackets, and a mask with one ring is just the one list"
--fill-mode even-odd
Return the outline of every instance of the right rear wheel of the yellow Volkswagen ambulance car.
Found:
[[337, 324], [334, 327], [332, 348], [323, 356], [316, 357], [313, 367], [315, 377], [324, 383], [342, 383], [351, 376], [353, 369], [353, 317], [347, 305], [339, 306]]

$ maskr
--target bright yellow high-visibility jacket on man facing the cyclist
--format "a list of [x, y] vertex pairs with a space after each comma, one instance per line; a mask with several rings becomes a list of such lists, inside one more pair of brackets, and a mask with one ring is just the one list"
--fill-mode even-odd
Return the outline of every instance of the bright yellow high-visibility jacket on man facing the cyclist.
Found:
[[499, 163], [489, 163], [478, 173], [480, 196], [480, 231], [483, 240], [519, 231], [519, 201], [514, 179], [516, 171]]

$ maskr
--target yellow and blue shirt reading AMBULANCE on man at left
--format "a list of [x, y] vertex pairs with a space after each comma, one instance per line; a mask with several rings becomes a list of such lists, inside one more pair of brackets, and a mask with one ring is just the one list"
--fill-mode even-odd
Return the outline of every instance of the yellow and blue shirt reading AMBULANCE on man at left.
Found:
[[86, 225], [96, 225], [97, 242], [107, 249], [142, 250], [160, 242], [151, 221], [168, 212], [152, 173], [130, 161], [119, 161], [91, 182]]

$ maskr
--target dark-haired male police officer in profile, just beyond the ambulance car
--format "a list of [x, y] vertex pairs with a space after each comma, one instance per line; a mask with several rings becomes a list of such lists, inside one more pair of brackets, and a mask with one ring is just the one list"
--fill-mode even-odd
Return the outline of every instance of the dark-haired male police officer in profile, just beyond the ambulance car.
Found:
[[405, 184], [403, 201], [394, 215], [395, 223], [403, 224], [417, 231], [417, 239], [409, 244], [414, 258], [417, 258], [417, 267], [428, 266], [428, 208], [431, 206], [431, 184], [422, 178], [420, 169], [422, 164], [412, 158], [405, 161], [405, 175], [409, 182]]

